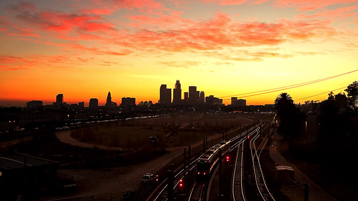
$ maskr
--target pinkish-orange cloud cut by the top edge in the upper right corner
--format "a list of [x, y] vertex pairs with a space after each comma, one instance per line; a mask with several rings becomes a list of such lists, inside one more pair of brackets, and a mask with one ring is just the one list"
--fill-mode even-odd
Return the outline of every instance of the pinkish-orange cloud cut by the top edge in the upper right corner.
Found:
[[282, 8], [297, 8], [296, 11], [312, 11], [323, 9], [334, 4], [350, 4], [358, 0], [277, 0], [276, 6]]

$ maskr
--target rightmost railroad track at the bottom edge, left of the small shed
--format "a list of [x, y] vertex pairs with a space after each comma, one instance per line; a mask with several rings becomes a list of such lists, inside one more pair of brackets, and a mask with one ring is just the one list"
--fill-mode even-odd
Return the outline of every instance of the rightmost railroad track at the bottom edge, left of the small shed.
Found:
[[[255, 146], [255, 141], [259, 137], [259, 133], [257, 133], [251, 140], [250, 140], [250, 149], [251, 149], [251, 158], [252, 158], [252, 164], [253, 164], [253, 173], [255, 175], [255, 183], [258, 190], [258, 196], [262, 198], [262, 200], [267, 201], [275, 201], [275, 198], [270, 193], [269, 188], [267, 188], [265, 177], [263, 175], [261, 165], [260, 165], [260, 155], [262, 152], [262, 149], [259, 154], [257, 154], [257, 149]], [[268, 140], [269, 136], [266, 136], [263, 141]], [[263, 142], [262, 141], [262, 142]], [[261, 144], [262, 144], [261, 142]], [[267, 142], [266, 142], [267, 143]], [[266, 144], [264, 143], [264, 145]], [[260, 146], [261, 146], [260, 144]], [[259, 146], [259, 147], [260, 147]]]

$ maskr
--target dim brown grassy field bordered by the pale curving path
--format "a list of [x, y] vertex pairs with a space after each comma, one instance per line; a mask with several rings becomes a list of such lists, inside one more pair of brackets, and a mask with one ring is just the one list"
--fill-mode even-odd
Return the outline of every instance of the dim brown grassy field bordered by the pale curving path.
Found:
[[[205, 136], [214, 133], [222, 133], [224, 130], [240, 128], [253, 120], [240, 117], [240, 114], [233, 114], [225, 117], [204, 117], [204, 119], [178, 119], [178, 118], [156, 118], [142, 121], [129, 121], [122, 124], [111, 124], [101, 127], [82, 128], [71, 133], [71, 136], [81, 142], [106, 145], [110, 147], [122, 147], [128, 149], [151, 148], [149, 137], [158, 137], [158, 146], [167, 146], [165, 133], [176, 131], [179, 126], [189, 126], [183, 128], [182, 132], [170, 139], [169, 147], [183, 146], [189, 142], [201, 141]], [[173, 124], [176, 124], [175, 126]], [[190, 130], [190, 126], [195, 126], [195, 131]], [[172, 130], [171, 130], [172, 129]]]

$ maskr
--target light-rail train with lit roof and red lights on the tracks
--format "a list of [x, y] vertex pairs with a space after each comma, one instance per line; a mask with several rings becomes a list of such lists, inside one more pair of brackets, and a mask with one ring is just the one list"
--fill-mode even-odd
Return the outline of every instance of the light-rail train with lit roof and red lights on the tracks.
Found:
[[203, 155], [198, 158], [195, 175], [197, 178], [206, 177], [212, 171], [214, 166], [219, 161], [219, 150], [224, 156], [231, 148], [231, 141], [222, 141], [213, 147], [209, 148]]

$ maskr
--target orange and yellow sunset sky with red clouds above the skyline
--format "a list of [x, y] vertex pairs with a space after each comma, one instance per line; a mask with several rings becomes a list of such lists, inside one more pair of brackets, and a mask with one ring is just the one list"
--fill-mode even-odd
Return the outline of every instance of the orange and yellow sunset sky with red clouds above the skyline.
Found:
[[[160, 85], [176, 80], [182, 96], [197, 86], [224, 97], [358, 69], [358, 0], [0, 1], [1, 105], [50, 104], [58, 93], [105, 104], [108, 91], [117, 103], [158, 102]], [[300, 99], [355, 80], [358, 72], [244, 99]]]

